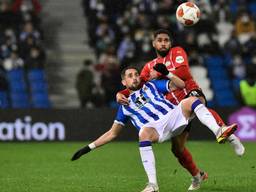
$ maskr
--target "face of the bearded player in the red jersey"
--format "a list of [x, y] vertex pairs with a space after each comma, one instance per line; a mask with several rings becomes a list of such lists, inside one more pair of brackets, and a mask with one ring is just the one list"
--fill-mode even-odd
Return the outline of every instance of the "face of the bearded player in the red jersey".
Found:
[[171, 48], [170, 37], [165, 33], [160, 33], [153, 41], [153, 47], [158, 56], [165, 57]]

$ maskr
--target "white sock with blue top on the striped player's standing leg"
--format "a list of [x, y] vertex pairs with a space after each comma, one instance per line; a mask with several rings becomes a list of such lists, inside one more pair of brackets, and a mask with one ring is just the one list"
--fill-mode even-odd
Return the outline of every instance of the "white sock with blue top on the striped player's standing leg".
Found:
[[140, 144], [141, 161], [148, 176], [149, 183], [157, 184], [155, 156], [150, 141], [141, 141]]

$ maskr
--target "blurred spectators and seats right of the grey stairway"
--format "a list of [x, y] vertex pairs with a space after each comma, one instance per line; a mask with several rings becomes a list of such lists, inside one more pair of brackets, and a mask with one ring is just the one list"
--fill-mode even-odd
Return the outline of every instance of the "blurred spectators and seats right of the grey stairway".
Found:
[[[256, 2], [196, 1], [201, 20], [192, 27], [177, 23], [175, 11], [180, 3], [182, 1], [83, 0], [89, 44], [98, 58], [96, 63], [87, 61], [90, 67], [83, 71], [97, 76], [97, 90], [101, 90], [101, 102], [94, 100], [99, 96], [95, 89], [91, 89], [91, 94], [88, 91], [84, 96], [80, 94], [83, 107], [90, 107], [91, 103], [115, 105], [114, 95], [121, 88], [117, 83], [119, 71], [130, 64], [142, 66], [155, 57], [151, 34], [158, 28], [168, 29], [173, 36], [173, 46], [186, 50], [192, 74], [199, 77], [196, 80], [205, 91], [209, 105], [238, 106], [243, 102], [240, 80], [253, 78], [256, 86]], [[78, 85], [87, 81], [83, 80], [82, 73], [78, 75]], [[87, 83], [88, 87], [93, 83]]]

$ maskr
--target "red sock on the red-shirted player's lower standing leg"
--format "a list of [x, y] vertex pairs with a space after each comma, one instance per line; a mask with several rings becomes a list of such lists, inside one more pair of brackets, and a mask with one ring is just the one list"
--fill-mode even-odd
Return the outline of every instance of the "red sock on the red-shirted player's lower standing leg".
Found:
[[179, 154], [175, 154], [178, 158], [180, 164], [189, 171], [192, 176], [195, 176], [199, 169], [197, 168], [195, 162], [193, 161], [192, 155], [187, 148], [184, 148], [184, 151]]

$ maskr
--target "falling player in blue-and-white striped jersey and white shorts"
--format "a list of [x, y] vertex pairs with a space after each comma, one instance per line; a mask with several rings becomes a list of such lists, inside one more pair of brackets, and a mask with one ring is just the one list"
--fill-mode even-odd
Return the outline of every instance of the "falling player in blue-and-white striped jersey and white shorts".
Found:
[[142, 192], [158, 192], [153, 142], [178, 137], [193, 114], [215, 134], [218, 142], [224, 142], [236, 130], [236, 124], [220, 127], [197, 97], [183, 99], [177, 106], [165, 99], [164, 94], [173, 87], [175, 89], [175, 83], [170, 80], [148, 81], [141, 86], [139, 71], [131, 66], [122, 71], [121, 77], [122, 84], [130, 91], [129, 105], [120, 105], [109, 131], [78, 150], [72, 160], [112, 141], [130, 119], [139, 132], [140, 156], [148, 177], [148, 184]]

